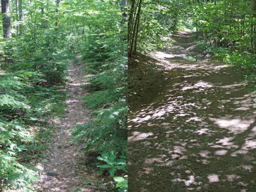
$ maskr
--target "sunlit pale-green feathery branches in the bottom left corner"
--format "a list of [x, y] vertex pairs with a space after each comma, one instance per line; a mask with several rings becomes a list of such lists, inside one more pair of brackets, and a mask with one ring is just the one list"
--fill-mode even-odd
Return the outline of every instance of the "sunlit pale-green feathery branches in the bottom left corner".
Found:
[[20, 145], [23, 141], [31, 139], [29, 132], [23, 124], [14, 120], [7, 122], [0, 119], [0, 180], [4, 186], [31, 187], [35, 179], [35, 172], [26, 165], [18, 163], [17, 153], [22, 153], [25, 148]]

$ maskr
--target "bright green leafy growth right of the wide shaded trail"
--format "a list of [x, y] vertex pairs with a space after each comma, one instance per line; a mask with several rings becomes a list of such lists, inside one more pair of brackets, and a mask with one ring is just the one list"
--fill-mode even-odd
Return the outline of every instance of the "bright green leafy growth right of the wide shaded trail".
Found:
[[191, 9], [198, 36], [211, 45], [208, 50], [255, 80], [256, 1], [198, 1]]

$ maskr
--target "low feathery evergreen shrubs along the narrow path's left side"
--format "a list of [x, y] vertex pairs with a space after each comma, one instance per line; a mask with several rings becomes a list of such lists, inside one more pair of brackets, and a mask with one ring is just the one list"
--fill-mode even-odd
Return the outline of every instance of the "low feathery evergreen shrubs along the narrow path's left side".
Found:
[[30, 161], [40, 155], [46, 147], [42, 143], [50, 136], [49, 128], [43, 130], [44, 123], [37, 126], [37, 122], [53, 113], [65, 98], [62, 87], [41, 87], [42, 77], [30, 71], [5, 72], [0, 76], [0, 182], [4, 188], [33, 190], [36, 172]]

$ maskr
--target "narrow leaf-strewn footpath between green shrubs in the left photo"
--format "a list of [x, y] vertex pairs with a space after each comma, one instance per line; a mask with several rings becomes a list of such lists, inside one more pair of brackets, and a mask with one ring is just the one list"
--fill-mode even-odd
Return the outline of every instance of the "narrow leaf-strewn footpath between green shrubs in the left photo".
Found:
[[83, 71], [82, 64], [71, 63], [66, 86], [70, 91], [70, 97], [66, 101], [68, 104], [66, 114], [61, 119], [53, 120], [56, 125], [56, 135], [45, 159], [41, 164], [37, 164], [37, 168], [41, 169], [41, 180], [36, 187], [38, 191], [95, 191], [90, 188], [81, 188], [84, 181], [95, 180], [95, 176], [82, 173], [84, 168], [81, 167], [81, 157], [78, 153], [82, 146], [69, 142], [72, 137], [71, 127], [88, 121], [88, 111], [84, 109], [80, 100], [80, 97], [86, 94], [81, 88], [86, 83]]

